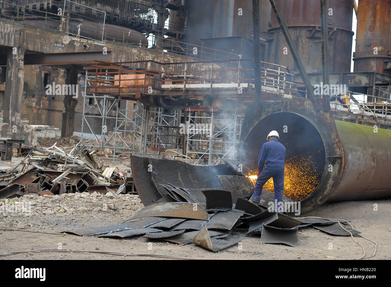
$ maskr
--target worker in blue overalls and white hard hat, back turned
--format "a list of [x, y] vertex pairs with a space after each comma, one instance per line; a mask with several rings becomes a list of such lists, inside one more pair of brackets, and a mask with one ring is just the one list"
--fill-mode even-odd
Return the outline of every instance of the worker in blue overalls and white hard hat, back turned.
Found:
[[[284, 191], [285, 146], [278, 142], [279, 137], [278, 132], [272, 130], [267, 135], [268, 142], [262, 145], [258, 157], [258, 178], [255, 181], [254, 194], [249, 199], [254, 204], [259, 204], [262, 187], [269, 178], [273, 177], [274, 210], [278, 210], [277, 207], [281, 206]], [[281, 202], [280, 205], [278, 205], [279, 202]]]

